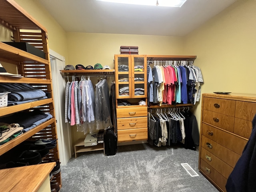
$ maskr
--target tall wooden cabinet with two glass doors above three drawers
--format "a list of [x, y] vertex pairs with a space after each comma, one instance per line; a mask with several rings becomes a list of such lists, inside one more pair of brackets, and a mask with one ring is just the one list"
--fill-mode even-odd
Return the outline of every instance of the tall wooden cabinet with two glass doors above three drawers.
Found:
[[146, 67], [146, 55], [115, 55], [118, 142], [148, 138]]

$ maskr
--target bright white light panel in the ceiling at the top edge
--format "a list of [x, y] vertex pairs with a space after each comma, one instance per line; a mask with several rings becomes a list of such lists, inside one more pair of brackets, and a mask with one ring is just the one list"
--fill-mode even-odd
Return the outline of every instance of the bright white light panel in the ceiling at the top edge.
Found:
[[186, 2], [186, 0], [97, 0], [97, 1], [134, 4], [134, 5], [164, 6], [164, 7], [181, 7]]

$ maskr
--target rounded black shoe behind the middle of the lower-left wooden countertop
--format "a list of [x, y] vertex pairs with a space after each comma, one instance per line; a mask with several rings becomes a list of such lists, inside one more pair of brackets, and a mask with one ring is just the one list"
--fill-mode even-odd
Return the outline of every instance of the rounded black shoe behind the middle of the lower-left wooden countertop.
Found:
[[17, 162], [28, 163], [29, 165], [40, 164], [42, 157], [38, 152], [24, 151], [19, 156]]

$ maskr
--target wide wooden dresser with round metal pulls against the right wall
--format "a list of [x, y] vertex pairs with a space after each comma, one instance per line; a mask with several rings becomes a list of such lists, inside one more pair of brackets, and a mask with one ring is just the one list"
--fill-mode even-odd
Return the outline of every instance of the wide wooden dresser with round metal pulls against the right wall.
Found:
[[220, 191], [252, 131], [256, 94], [202, 94], [199, 170]]

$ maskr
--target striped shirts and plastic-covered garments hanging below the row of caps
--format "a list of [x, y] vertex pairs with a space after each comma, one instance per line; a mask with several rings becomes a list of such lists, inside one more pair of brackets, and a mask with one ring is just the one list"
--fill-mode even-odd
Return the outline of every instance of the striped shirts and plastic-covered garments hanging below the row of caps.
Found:
[[65, 92], [65, 122], [76, 125], [78, 132], [93, 133], [112, 126], [109, 91], [106, 79], [96, 84], [96, 96], [90, 78], [67, 82]]

